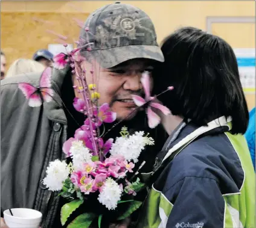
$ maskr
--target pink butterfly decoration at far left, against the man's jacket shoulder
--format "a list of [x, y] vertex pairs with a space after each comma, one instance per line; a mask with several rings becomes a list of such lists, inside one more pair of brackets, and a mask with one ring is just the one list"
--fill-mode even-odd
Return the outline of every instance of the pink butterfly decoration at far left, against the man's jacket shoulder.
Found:
[[30, 83], [19, 83], [19, 89], [28, 99], [28, 105], [38, 107], [43, 102], [50, 102], [53, 99], [54, 91], [51, 87], [51, 67], [46, 68], [40, 78], [39, 87], [34, 87]]

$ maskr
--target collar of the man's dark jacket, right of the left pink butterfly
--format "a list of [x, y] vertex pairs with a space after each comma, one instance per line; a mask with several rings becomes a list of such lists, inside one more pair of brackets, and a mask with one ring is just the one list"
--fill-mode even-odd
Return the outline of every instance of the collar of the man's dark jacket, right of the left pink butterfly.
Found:
[[54, 90], [53, 100], [48, 103], [43, 103], [48, 119], [54, 122], [63, 123], [64, 125], [67, 125], [68, 122], [63, 110], [61, 88], [66, 75], [70, 74], [70, 70], [71, 67], [69, 65], [62, 70], [53, 68], [51, 76], [51, 87]]

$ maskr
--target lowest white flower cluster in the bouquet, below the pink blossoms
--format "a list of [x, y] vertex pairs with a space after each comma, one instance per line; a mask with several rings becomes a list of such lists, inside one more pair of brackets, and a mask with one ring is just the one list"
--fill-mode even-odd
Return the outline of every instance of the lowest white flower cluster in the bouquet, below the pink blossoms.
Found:
[[101, 193], [98, 195], [98, 201], [109, 210], [117, 208], [117, 202], [121, 200], [122, 189], [115, 180], [107, 178]]

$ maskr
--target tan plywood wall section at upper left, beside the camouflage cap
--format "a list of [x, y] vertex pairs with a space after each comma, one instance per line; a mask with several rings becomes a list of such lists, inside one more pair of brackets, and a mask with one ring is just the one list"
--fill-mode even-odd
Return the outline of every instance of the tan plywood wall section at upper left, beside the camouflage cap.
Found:
[[[7, 67], [17, 58], [32, 58], [38, 49], [60, 43], [53, 30], [65, 35], [66, 43], [78, 39], [80, 27], [74, 19], [85, 21], [88, 13], [1, 12], [1, 50], [7, 56]], [[49, 23], [37, 21], [40, 19]]]

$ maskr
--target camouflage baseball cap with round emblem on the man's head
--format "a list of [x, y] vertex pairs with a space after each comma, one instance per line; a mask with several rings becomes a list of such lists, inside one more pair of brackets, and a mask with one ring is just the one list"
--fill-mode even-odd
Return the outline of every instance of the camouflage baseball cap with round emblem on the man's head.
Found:
[[139, 8], [115, 2], [95, 10], [80, 32], [79, 46], [94, 43], [86, 58], [94, 57], [104, 68], [133, 58], [163, 62], [152, 20]]

